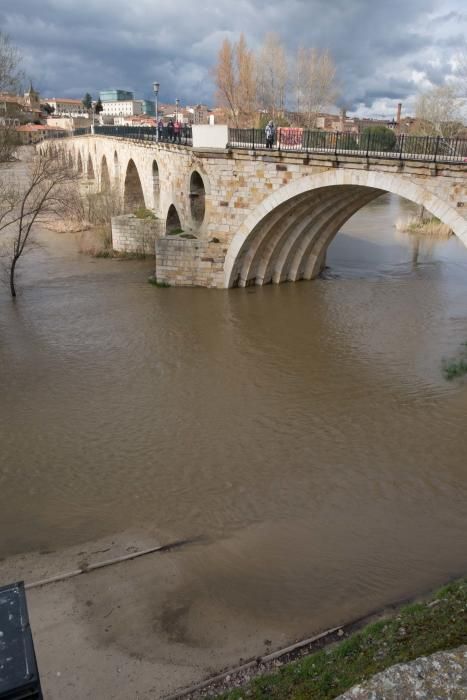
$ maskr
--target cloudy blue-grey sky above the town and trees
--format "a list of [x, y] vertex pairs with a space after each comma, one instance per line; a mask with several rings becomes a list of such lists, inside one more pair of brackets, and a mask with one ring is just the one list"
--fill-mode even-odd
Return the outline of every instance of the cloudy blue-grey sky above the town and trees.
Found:
[[467, 53], [465, 0], [0, 0], [0, 30], [42, 96], [134, 90], [213, 103], [209, 69], [224, 37], [267, 31], [292, 54], [330, 49], [341, 99], [358, 114], [406, 113], [417, 90], [452, 79]]

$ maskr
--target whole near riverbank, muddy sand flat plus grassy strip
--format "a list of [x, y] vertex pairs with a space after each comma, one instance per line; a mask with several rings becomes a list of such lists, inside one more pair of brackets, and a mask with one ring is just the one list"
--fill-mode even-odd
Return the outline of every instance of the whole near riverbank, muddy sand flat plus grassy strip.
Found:
[[[270, 632], [266, 622], [248, 633], [219, 609], [206, 609], [190, 629], [184, 619], [190, 606], [185, 566], [193, 554], [209, 558], [213, 543], [177, 540], [149, 528], [130, 530], [0, 562], [2, 581], [26, 582], [49, 700], [195, 700], [219, 694], [223, 700], [328, 700], [394, 663], [467, 643], [466, 579], [402, 609], [390, 606], [295, 642], [289, 651], [285, 636], [264, 639]], [[161, 544], [172, 546], [137, 557]], [[47, 583], [55, 576], [60, 580]], [[340, 618], [336, 610], [334, 620]], [[210, 630], [219, 624], [224, 639], [219, 636], [213, 646]], [[220, 669], [231, 670], [218, 682], [204, 680]], [[200, 690], [183, 691], [194, 687]]]

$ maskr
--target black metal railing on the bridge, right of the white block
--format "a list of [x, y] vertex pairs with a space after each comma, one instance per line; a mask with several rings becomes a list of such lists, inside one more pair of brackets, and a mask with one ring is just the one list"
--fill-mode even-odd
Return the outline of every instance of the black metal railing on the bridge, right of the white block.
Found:
[[377, 133], [347, 134], [278, 128], [271, 148], [263, 129], [229, 129], [228, 147], [349, 155], [361, 158], [456, 162], [467, 165], [467, 139], [440, 136], [394, 134], [392, 139], [386, 139]]

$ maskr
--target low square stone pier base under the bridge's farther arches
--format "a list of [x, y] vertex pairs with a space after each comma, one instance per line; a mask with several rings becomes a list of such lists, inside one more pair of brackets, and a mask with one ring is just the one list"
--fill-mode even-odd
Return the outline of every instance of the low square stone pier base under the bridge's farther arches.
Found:
[[112, 248], [119, 253], [155, 254], [156, 240], [165, 235], [160, 219], [138, 219], [134, 214], [112, 217]]

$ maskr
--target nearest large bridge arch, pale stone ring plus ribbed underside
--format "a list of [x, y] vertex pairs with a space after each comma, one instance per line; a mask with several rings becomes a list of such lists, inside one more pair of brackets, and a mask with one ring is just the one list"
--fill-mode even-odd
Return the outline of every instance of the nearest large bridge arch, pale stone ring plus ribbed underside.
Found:
[[385, 192], [423, 205], [467, 246], [467, 221], [455, 208], [400, 174], [332, 170], [277, 190], [245, 219], [224, 264], [224, 286], [312, 279], [343, 224]]

